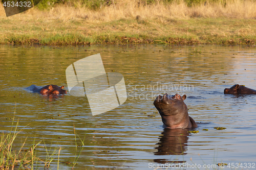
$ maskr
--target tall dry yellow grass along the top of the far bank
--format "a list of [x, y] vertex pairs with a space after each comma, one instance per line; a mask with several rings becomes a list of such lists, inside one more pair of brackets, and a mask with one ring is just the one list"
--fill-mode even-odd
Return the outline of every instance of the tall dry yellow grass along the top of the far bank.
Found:
[[[228, 18], [256, 18], [256, 2], [253, 0], [230, 0], [224, 5], [220, 0], [216, 3], [202, 3], [193, 7], [187, 7], [184, 1], [176, 1], [171, 4], [157, 3], [154, 5], [139, 6], [138, 1], [117, 1], [115, 6], [103, 7], [100, 10], [89, 10], [77, 4], [77, 7], [59, 5], [50, 10], [39, 11], [35, 8], [14, 15], [10, 18], [57, 18], [74, 19], [83, 18], [90, 21], [113, 21], [121, 18], [135, 18], [140, 15], [144, 19], [154, 19], [162, 16], [176, 19], [189, 19], [191, 17], [228, 17]], [[5, 17], [4, 7], [0, 6], [0, 17]]]

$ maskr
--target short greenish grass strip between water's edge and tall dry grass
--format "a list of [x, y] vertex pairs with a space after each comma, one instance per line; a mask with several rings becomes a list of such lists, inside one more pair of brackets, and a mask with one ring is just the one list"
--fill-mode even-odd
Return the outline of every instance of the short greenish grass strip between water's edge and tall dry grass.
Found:
[[[63, 23], [43, 19], [17, 25], [17, 20], [0, 25], [2, 44], [256, 44], [256, 20], [227, 18], [177, 19], [161, 23], [156, 20], [122, 20], [87, 23], [77, 19]], [[20, 22], [20, 21], [18, 21]]]

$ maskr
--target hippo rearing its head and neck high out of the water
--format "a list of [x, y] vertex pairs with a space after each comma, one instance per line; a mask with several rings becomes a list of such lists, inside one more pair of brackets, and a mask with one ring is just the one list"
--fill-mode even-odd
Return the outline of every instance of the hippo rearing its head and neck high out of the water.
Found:
[[180, 94], [171, 96], [165, 93], [154, 101], [166, 128], [197, 128], [195, 120], [188, 116], [187, 106], [184, 103], [186, 98], [186, 94], [181, 97]]

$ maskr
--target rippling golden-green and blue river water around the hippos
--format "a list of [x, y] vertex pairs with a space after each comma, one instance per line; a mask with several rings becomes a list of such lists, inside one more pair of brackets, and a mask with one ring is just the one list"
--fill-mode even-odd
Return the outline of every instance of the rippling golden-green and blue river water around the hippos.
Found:
[[[14, 125], [18, 120], [23, 128], [16, 146], [26, 137], [25, 148], [43, 140], [36, 149], [42, 159], [45, 147], [52, 147], [50, 152], [61, 147], [60, 162], [75, 162], [80, 153], [75, 169], [154, 169], [164, 163], [191, 165], [172, 169], [197, 169], [195, 164], [213, 169], [203, 164], [217, 163], [256, 168], [256, 95], [223, 94], [234, 84], [256, 89], [255, 46], [1, 45], [0, 52], [0, 132], [10, 130], [15, 116]], [[92, 116], [86, 98], [69, 93], [49, 98], [24, 90], [31, 84], [68, 90], [66, 68], [97, 53], [106, 72], [124, 76], [128, 96], [120, 107]], [[164, 92], [187, 94], [185, 103], [199, 133], [162, 128], [153, 102]], [[60, 169], [72, 166], [60, 163]], [[54, 163], [50, 167], [56, 169]]]

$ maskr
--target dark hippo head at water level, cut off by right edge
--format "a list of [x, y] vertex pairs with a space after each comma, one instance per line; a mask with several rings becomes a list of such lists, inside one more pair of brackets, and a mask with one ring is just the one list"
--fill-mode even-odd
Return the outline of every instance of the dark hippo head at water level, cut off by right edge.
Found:
[[224, 94], [256, 94], [256, 90], [243, 85], [235, 84], [230, 88], [225, 88]]

